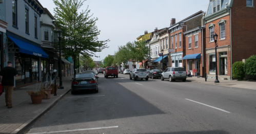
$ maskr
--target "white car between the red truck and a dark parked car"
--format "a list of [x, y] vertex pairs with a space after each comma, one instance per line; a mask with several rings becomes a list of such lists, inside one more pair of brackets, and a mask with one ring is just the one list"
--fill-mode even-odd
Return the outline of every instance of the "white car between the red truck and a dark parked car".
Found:
[[146, 69], [133, 69], [132, 72], [130, 73], [130, 80], [135, 81], [136, 79], [146, 79], [148, 80], [148, 72]]

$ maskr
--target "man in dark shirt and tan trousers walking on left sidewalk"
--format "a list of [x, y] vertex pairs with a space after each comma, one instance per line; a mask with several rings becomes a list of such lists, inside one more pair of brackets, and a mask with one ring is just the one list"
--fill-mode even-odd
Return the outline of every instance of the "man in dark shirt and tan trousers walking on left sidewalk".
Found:
[[12, 108], [12, 91], [14, 88], [14, 77], [18, 76], [15, 68], [12, 68], [11, 61], [7, 62], [7, 66], [1, 70], [0, 84], [5, 88], [5, 103], [8, 108]]

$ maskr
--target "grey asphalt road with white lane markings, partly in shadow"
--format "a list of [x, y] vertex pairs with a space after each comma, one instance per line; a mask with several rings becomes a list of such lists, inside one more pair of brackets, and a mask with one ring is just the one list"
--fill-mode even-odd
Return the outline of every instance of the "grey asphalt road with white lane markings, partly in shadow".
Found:
[[255, 90], [98, 76], [99, 93], [69, 93], [28, 133], [256, 133]]

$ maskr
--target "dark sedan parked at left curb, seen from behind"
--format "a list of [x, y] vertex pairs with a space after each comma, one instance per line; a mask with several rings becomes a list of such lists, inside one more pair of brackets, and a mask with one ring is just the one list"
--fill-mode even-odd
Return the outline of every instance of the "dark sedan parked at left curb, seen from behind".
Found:
[[98, 77], [94, 77], [92, 73], [78, 73], [72, 78], [71, 83], [71, 94], [75, 94], [79, 91], [94, 91], [95, 93], [99, 92], [98, 88]]

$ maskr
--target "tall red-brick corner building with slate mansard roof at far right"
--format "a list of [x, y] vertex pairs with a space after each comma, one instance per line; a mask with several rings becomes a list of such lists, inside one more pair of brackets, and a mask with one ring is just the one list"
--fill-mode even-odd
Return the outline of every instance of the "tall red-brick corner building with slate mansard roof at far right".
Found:
[[[206, 73], [232, 78], [232, 63], [255, 55], [255, 0], [210, 0], [206, 25]], [[218, 34], [217, 55], [213, 34]], [[208, 38], [207, 38], [208, 37]], [[217, 56], [218, 61], [215, 61]]]

